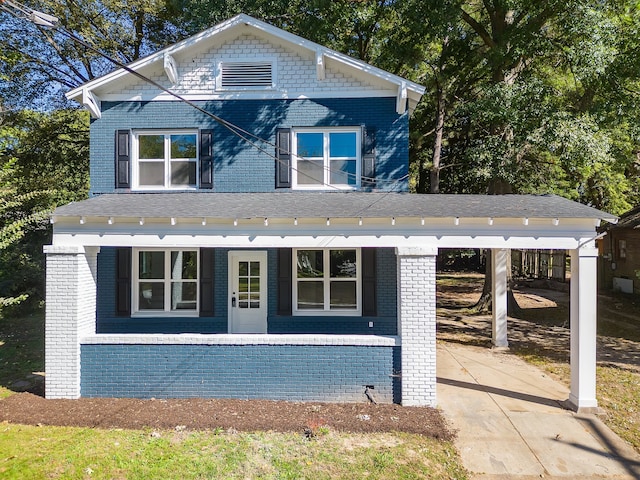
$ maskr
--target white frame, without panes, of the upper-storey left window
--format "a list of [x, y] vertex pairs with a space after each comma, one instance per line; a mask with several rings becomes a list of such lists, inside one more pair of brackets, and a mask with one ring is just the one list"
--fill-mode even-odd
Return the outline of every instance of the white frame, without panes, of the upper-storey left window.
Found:
[[[164, 185], [140, 185], [140, 164], [145, 160], [140, 160], [139, 137], [144, 135], [164, 135]], [[194, 135], [196, 137], [196, 157], [189, 159], [190, 163], [196, 164], [196, 184], [195, 186], [178, 185], [171, 186], [171, 161], [185, 161], [183, 158], [171, 158], [171, 135]], [[131, 178], [134, 190], [197, 190], [200, 186], [200, 132], [194, 129], [185, 130], [134, 130], [131, 142]]]

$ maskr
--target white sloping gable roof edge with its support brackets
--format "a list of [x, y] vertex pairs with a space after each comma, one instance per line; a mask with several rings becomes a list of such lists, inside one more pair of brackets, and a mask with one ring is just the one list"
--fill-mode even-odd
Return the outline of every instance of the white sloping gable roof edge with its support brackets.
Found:
[[[273, 25], [245, 14], [237, 15], [181, 42], [137, 60], [129, 64], [128, 67], [140, 73], [143, 71], [149, 71], [149, 68], [165, 68], [167, 75], [171, 78], [172, 71], [175, 72], [175, 69], [172, 70], [171, 67], [171, 63], [174, 61], [174, 55], [183, 55], [190, 49], [197, 49], [198, 46], [203, 43], [222, 44], [225, 40], [231, 38], [234, 33], [243, 31], [243, 29], [246, 30], [247, 28], [249, 31], [259, 34], [262, 37], [272, 39], [279, 44], [289, 45], [297, 50], [306, 50], [312, 55], [315, 55], [319, 78], [321, 78], [321, 71], [324, 69], [325, 62], [328, 61], [334, 62], [336, 65], [341, 66], [341, 68], [355, 72], [356, 75], [363, 78], [370, 78], [376, 84], [383, 83], [386, 85], [386, 90], [397, 95], [397, 109], [399, 113], [404, 112], [404, 109], [407, 108], [407, 104], [409, 112], [413, 111], [415, 105], [418, 103], [425, 91], [425, 87], [417, 83], [406, 80], [310, 40], [306, 40], [298, 35], [286, 32], [280, 28], [274, 27]], [[100, 99], [96, 95], [96, 90], [109, 87], [110, 84], [117, 84], [119, 81], [125, 81], [125, 79], [130, 79], [131, 76], [131, 73], [127, 72], [125, 69], [119, 68], [107, 75], [74, 88], [69, 91], [66, 96], [68, 99], [76, 100], [79, 103], [84, 104], [91, 110], [94, 116], [99, 116]]]

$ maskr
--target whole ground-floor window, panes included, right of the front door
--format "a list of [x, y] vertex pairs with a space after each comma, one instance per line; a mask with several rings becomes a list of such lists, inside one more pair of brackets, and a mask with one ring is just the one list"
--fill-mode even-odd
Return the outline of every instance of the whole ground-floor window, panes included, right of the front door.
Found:
[[293, 252], [295, 315], [359, 315], [362, 310], [360, 249]]

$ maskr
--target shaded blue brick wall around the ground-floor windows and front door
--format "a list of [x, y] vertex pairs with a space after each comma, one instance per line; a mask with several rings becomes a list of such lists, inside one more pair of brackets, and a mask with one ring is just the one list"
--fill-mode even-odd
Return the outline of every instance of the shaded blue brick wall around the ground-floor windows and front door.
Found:
[[[116, 316], [116, 249], [103, 247], [98, 254], [98, 333], [227, 333], [229, 249], [216, 249], [214, 317]], [[376, 255], [376, 317], [294, 317], [277, 314], [277, 250], [268, 250], [268, 332], [396, 335], [396, 257], [391, 248]], [[373, 327], [369, 327], [373, 322]]]

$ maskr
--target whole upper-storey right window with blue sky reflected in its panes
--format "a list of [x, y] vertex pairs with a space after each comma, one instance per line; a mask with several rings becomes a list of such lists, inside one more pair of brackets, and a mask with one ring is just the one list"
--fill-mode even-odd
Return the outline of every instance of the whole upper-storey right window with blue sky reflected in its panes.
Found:
[[300, 190], [360, 187], [360, 127], [292, 130], [292, 187]]

